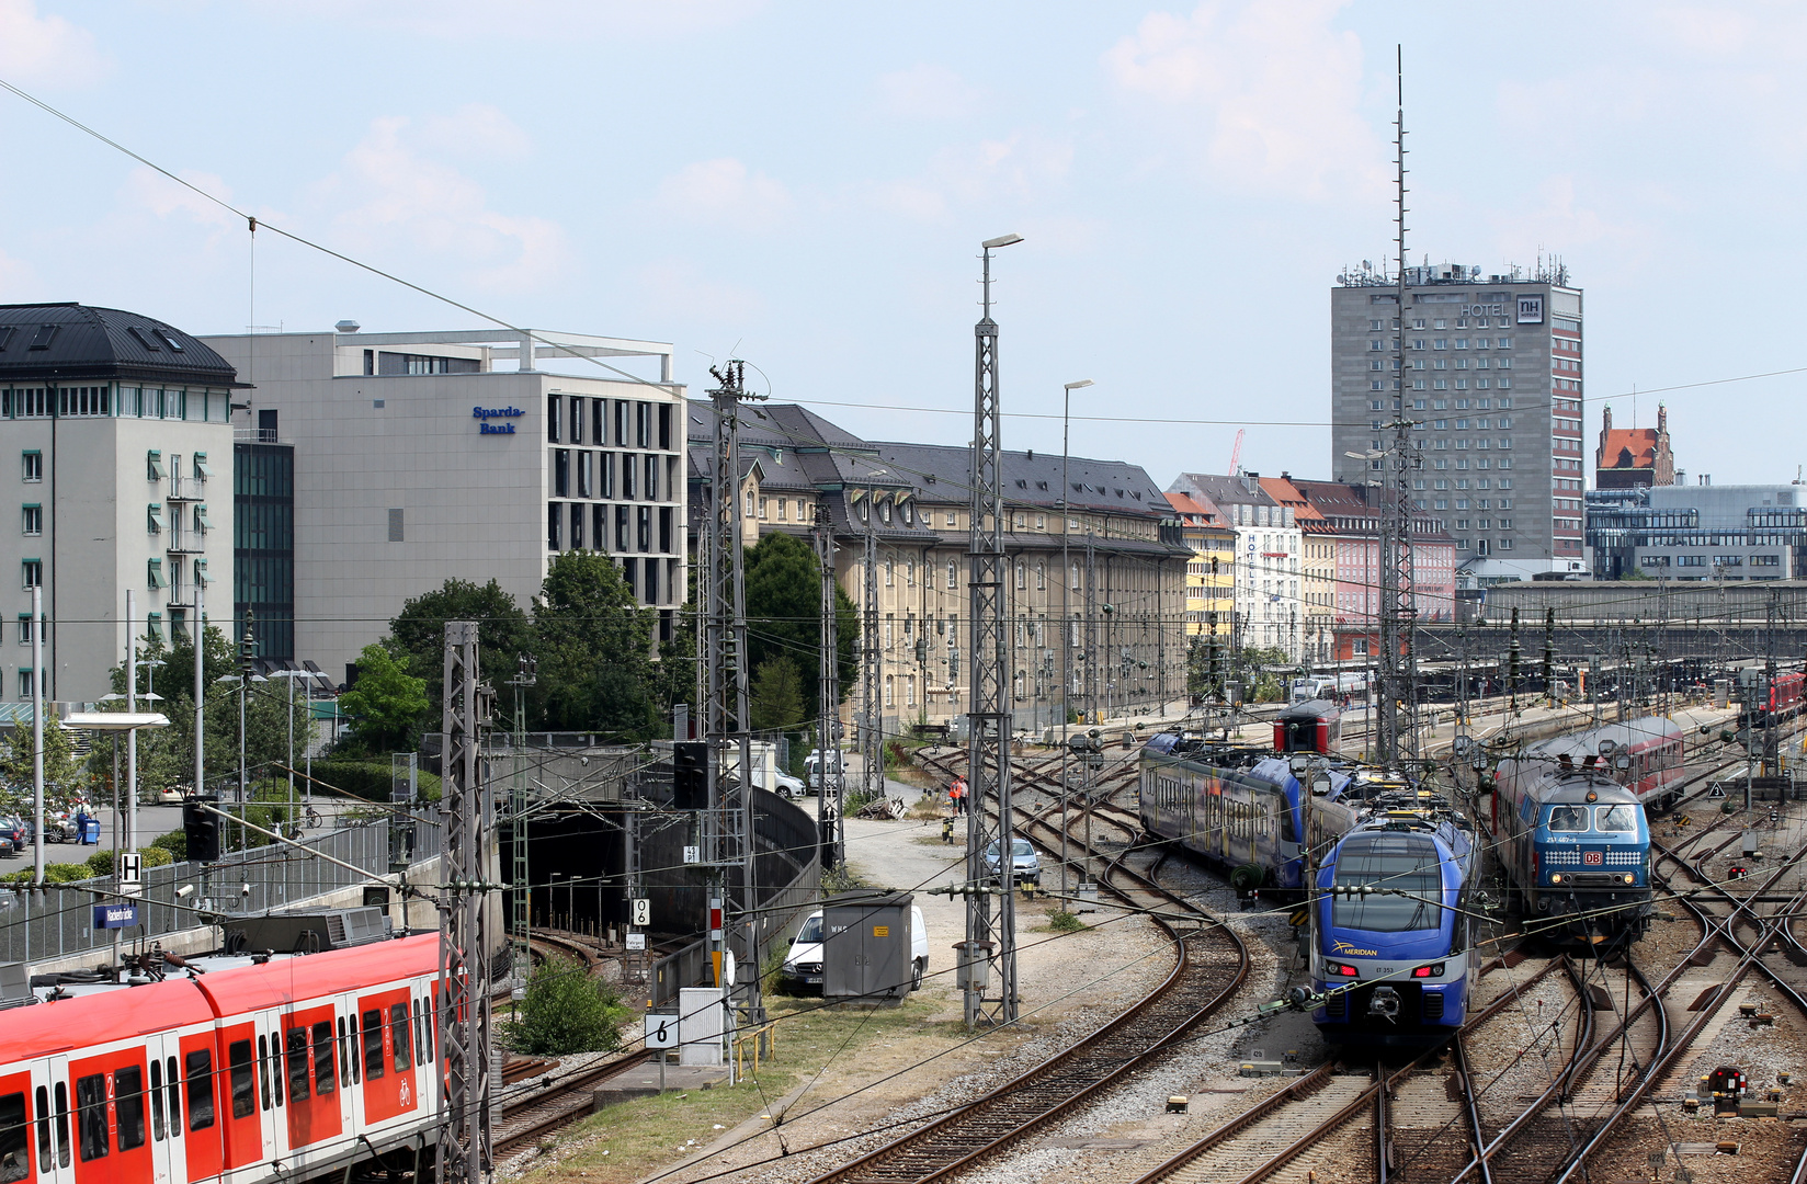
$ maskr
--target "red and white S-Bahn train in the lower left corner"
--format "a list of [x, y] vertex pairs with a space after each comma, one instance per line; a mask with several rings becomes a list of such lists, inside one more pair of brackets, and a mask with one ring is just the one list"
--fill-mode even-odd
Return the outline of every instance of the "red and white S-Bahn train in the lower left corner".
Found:
[[0, 1184], [295, 1184], [430, 1144], [435, 935], [193, 965], [0, 1010]]

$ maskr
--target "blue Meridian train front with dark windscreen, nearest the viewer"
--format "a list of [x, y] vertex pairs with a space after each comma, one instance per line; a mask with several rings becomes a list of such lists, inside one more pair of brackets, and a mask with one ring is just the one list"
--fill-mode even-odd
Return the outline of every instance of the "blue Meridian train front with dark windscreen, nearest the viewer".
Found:
[[1424, 790], [1382, 794], [1317, 868], [1312, 1021], [1335, 1043], [1435, 1045], [1462, 1027], [1473, 824]]

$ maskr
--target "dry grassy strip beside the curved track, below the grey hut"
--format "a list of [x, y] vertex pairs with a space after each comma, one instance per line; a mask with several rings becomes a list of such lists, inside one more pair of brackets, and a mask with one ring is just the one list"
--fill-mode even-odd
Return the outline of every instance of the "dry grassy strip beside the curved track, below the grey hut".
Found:
[[[770, 1114], [784, 1094], [817, 1074], [824, 1065], [847, 1070], [860, 1063], [860, 1050], [898, 1038], [943, 1038], [949, 1045], [965, 1039], [965, 1027], [931, 1021], [938, 1009], [918, 996], [902, 1007], [824, 1009], [820, 1000], [768, 998], [777, 1021], [777, 1056], [761, 1061], [757, 1085], [717, 1085], [708, 1090], [670, 1092], [605, 1106], [582, 1123], [566, 1128], [564, 1141], [600, 1135], [582, 1151], [557, 1166], [531, 1171], [535, 1184], [576, 1180], [627, 1184], [652, 1175], [687, 1155], [694, 1155], [739, 1123]], [[851, 1036], [851, 1041], [849, 1041]], [[914, 1059], [914, 1057], [913, 1057]], [[806, 1094], [799, 1114], [833, 1097], [831, 1092]], [[716, 1128], [721, 1130], [716, 1130]], [[687, 1141], [694, 1139], [690, 1144]], [[777, 1148], [773, 1148], [775, 1151]], [[604, 1153], [607, 1151], [607, 1155]]]

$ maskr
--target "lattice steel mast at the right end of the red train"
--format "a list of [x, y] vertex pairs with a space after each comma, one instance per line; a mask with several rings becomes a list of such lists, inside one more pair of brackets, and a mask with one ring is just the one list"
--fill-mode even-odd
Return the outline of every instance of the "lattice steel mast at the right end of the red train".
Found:
[[439, 1184], [482, 1184], [493, 1171], [490, 1141], [490, 841], [495, 810], [482, 775], [479, 728], [490, 692], [477, 685], [477, 622], [446, 622], [443, 788], [439, 819], [439, 991], [434, 1009], [445, 1057], [445, 1126]]

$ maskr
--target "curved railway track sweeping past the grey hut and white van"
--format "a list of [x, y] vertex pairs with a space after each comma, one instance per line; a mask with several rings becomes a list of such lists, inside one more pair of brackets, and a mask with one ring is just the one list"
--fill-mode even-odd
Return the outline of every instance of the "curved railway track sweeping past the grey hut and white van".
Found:
[[[1061, 830], [1041, 815], [1021, 819], [1017, 833], [1044, 850], [1061, 841]], [[987, 1097], [817, 1177], [813, 1184], [929, 1184], [969, 1170], [1147, 1067], [1241, 987], [1249, 974], [1249, 951], [1212, 916], [1122, 857], [1108, 857], [1100, 888], [1129, 907], [1162, 907], [1166, 916], [1156, 915], [1155, 924], [1176, 951], [1167, 978], [1072, 1048]], [[1175, 916], [1187, 922], [1171, 920]]]

